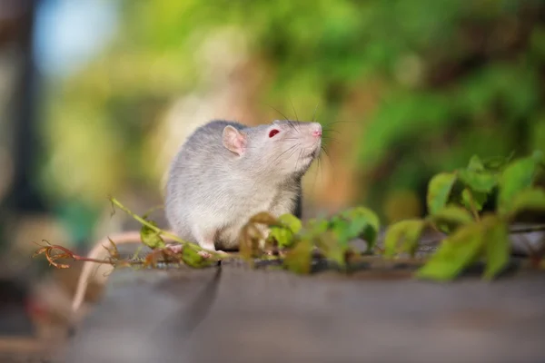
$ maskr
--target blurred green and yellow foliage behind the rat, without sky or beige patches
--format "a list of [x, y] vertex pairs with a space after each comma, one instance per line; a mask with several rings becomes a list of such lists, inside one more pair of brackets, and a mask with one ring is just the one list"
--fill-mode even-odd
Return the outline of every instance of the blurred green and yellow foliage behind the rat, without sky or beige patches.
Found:
[[[120, 6], [114, 42], [51, 96], [45, 134], [57, 156], [46, 164], [45, 184], [56, 199], [85, 195], [104, 203], [104, 191], [116, 192], [128, 179], [156, 182], [143, 167], [150, 160], [145, 134], [176, 97], [210, 86], [196, 52], [225, 27], [244, 35], [249, 60], [267, 75], [261, 100], [284, 113], [293, 102], [307, 117], [319, 104], [322, 123], [350, 114], [362, 125], [353, 152], [363, 178], [382, 171], [381, 182], [362, 190], [378, 211], [394, 191], [425, 198], [431, 175], [463, 166], [472, 154], [545, 151], [543, 1]], [[377, 102], [354, 118], [347, 108], [356, 108], [362, 91]], [[79, 182], [66, 178], [75, 174]]]

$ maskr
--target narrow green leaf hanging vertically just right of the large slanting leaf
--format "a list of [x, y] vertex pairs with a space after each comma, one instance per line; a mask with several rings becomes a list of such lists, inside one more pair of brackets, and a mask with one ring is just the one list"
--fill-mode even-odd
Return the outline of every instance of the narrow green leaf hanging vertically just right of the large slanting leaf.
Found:
[[484, 278], [493, 279], [509, 262], [510, 239], [507, 223], [497, 217], [483, 220], [486, 229], [486, 270]]

